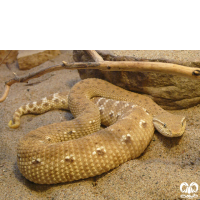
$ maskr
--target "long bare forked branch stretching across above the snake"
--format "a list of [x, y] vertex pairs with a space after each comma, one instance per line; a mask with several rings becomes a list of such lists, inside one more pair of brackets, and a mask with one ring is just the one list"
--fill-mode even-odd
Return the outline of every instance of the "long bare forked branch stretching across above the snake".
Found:
[[5, 82], [5, 91], [0, 98], [0, 102], [4, 101], [8, 96], [10, 86], [16, 82], [27, 82], [30, 79], [40, 77], [46, 73], [62, 70], [62, 69], [99, 69], [104, 71], [154, 71], [168, 74], [176, 74], [192, 79], [200, 80], [200, 69], [194, 67], [186, 67], [173, 63], [162, 62], [143, 62], [143, 61], [104, 61], [103, 58], [95, 50], [85, 50], [85, 52], [94, 60], [94, 62], [73, 62], [67, 63], [63, 61], [60, 65], [51, 66], [26, 76], [15, 77]]

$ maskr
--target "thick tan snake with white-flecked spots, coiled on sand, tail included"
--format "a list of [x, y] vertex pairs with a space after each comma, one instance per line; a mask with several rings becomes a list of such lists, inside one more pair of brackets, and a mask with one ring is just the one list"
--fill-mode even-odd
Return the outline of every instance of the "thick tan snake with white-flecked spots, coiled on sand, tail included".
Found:
[[97, 78], [20, 106], [8, 125], [17, 128], [22, 115], [53, 109], [70, 110], [74, 119], [32, 130], [17, 146], [18, 168], [36, 184], [71, 182], [108, 172], [139, 157], [155, 129], [166, 137], [179, 137], [186, 127], [184, 116], [167, 112], [150, 97]]

